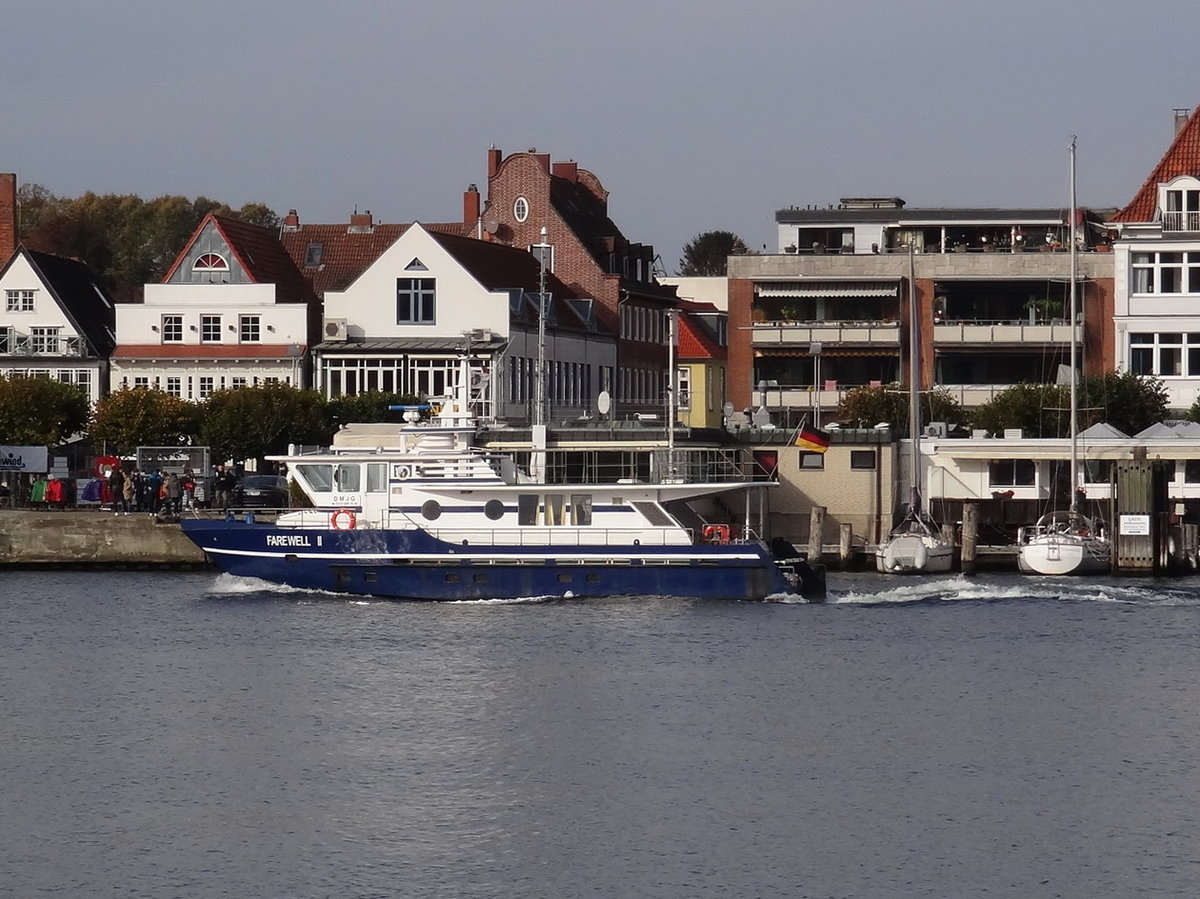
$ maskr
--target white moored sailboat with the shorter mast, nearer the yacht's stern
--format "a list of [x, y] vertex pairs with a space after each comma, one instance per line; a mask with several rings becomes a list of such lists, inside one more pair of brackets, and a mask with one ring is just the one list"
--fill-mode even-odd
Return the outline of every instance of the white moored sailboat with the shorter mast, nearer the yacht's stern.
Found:
[[908, 244], [908, 430], [912, 461], [908, 466], [908, 511], [875, 551], [875, 570], [881, 574], [949, 571], [954, 544], [942, 537], [920, 501], [920, 366], [917, 330], [917, 278], [913, 246]]

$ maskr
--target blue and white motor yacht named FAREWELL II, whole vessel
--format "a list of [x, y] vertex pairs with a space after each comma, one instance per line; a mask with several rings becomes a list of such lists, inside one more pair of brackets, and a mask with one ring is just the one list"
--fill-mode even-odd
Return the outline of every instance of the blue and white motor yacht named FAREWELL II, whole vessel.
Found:
[[791, 544], [758, 539], [749, 514], [734, 527], [689, 511], [769, 484], [534, 483], [474, 445], [466, 409], [446, 403], [390, 438], [350, 425], [360, 445], [272, 457], [312, 508], [185, 517], [184, 533], [233, 575], [395, 599], [823, 598], [823, 576]]

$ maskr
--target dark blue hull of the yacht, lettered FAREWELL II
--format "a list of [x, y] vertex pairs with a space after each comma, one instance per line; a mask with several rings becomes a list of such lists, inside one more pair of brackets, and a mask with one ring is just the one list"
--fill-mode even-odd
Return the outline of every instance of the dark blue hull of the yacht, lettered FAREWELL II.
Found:
[[[758, 543], [722, 546], [469, 546], [422, 531], [278, 528], [190, 519], [224, 571], [304, 589], [413, 600], [662, 595], [761, 600], [810, 592]], [[823, 585], [822, 585], [823, 592]]]

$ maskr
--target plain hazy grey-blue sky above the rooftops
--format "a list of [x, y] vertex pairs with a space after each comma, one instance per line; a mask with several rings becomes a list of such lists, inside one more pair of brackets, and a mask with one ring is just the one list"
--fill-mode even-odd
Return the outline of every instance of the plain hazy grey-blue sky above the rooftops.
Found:
[[457, 221], [486, 151], [574, 160], [674, 274], [842, 197], [1124, 205], [1200, 104], [1195, 0], [12, 0], [0, 172], [302, 222]]

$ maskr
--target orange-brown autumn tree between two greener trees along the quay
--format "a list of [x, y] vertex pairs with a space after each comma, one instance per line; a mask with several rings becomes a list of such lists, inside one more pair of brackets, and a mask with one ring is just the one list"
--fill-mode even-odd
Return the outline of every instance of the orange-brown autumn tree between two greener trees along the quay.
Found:
[[138, 446], [186, 446], [199, 434], [196, 403], [162, 390], [124, 388], [96, 403], [89, 436], [109, 451], [128, 455]]

